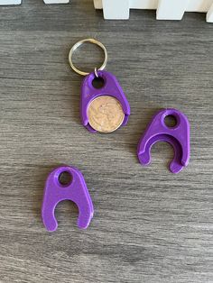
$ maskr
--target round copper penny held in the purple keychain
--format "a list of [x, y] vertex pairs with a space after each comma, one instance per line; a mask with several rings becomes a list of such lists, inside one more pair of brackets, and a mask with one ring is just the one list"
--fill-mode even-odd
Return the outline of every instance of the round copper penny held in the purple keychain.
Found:
[[88, 105], [88, 122], [98, 132], [114, 132], [124, 119], [122, 105], [113, 96], [98, 96]]

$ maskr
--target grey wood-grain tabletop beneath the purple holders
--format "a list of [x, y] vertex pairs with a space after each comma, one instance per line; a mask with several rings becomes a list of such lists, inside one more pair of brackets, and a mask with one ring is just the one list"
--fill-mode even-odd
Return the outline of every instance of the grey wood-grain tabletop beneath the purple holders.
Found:
[[[119, 79], [132, 115], [111, 134], [91, 134], [79, 121], [82, 77], [69, 68], [72, 44], [97, 38], [107, 70]], [[213, 282], [213, 25], [205, 14], [156, 21], [131, 11], [104, 21], [92, 1], [0, 7], [0, 282]], [[75, 61], [95, 67], [89, 46]], [[168, 170], [173, 151], [153, 146], [143, 168], [136, 145], [162, 107], [189, 117], [188, 168]], [[41, 221], [51, 169], [78, 167], [95, 215], [80, 231], [69, 201], [56, 209], [59, 228]]]

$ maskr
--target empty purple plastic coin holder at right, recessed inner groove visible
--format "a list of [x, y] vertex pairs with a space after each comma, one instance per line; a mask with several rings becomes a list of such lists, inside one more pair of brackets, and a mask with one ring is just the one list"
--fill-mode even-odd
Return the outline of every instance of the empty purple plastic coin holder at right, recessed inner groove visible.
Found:
[[[164, 119], [171, 115], [176, 125], [168, 127]], [[179, 173], [190, 160], [190, 123], [188, 118], [176, 109], [163, 109], [153, 116], [137, 147], [137, 156], [142, 165], [151, 162], [151, 148], [155, 142], [169, 142], [174, 149], [170, 170]]]

